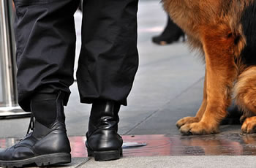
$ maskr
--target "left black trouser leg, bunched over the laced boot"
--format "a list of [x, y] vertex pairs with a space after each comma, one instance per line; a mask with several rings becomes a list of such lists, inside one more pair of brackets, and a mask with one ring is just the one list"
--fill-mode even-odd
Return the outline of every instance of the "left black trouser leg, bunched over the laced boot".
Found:
[[73, 83], [78, 0], [15, 0], [18, 99], [30, 111], [35, 93], [65, 93]]

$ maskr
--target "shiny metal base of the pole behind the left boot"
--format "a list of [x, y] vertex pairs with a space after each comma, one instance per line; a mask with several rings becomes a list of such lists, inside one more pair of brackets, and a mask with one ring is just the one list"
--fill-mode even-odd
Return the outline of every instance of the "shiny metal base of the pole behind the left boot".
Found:
[[24, 112], [19, 106], [0, 107], [0, 119], [26, 118], [31, 112]]

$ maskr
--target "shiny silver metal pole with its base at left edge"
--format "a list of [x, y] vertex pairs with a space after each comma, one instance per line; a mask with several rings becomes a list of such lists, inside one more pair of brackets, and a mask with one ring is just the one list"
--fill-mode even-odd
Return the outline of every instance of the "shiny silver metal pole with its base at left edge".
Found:
[[0, 118], [29, 115], [18, 106], [12, 13], [12, 1], [0, 0]]

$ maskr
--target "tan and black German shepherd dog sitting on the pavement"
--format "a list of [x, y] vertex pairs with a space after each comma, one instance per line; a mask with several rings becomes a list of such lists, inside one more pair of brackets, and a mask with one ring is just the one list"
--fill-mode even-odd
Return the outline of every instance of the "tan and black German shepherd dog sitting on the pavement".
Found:
[[182, 134], [215, 134], [232, 98], [241, 130], [256, 132], [256, 0], [162, 0], [189, 44], [206, 61], [203, 102], [195, 117], [179, 120]]

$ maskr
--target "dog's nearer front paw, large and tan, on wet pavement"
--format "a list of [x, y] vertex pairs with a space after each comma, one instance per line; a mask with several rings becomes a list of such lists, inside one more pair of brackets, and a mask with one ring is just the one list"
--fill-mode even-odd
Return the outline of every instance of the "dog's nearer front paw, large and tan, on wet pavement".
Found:
[[179, 130], [185, 135], [216, 134], [219, 132], [218, 126], [211, 126], [209, 123], [204, 123], [203, 121], [186, 124], [181, 126]]

